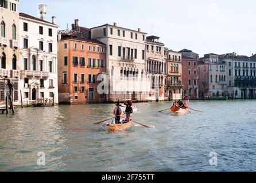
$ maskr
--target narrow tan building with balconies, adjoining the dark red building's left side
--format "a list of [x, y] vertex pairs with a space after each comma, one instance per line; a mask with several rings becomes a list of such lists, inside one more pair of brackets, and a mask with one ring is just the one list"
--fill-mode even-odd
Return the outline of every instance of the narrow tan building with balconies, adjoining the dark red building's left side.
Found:
[[177, 51], [168, 50], [167, 52], [167, 83], [166, 92], [168, 100], [180, 100], [183, 98], [182, 83], [182, 54]]

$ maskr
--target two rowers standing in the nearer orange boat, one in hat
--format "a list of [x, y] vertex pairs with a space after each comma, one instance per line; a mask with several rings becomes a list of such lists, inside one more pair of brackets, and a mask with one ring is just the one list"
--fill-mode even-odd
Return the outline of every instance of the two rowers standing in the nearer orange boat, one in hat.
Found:
[[115, 124], [125, 124], [125, 123], [133, 120], [133, 117], [132, 117], [133, 102], [131, 102], [131, 101], [126, 102], [125, 105], [126, 105], [126, 109], [125, 109], [126, 118], [125, 118], [125, 120], [122, 120], [122, 121], [121, 121], [121, 116], [123, 116], [123, 110], [121, 109], [119, 100], [118, 100], [117, 104], [115, 105], [115, 109], [113, 112], [113, 114], [115, 115]]

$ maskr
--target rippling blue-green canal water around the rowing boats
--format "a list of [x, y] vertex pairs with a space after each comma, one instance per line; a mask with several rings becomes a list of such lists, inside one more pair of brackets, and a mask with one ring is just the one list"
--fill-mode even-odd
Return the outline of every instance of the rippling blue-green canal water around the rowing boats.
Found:
[[134, 120], [155, 128], [92, 125], [111, 104], [0, 114], [0, 171], [256, 171], [256, 101], [192, 101], [203, 113], [180, 117], [157, 112], [170, 102], [136, 105]]

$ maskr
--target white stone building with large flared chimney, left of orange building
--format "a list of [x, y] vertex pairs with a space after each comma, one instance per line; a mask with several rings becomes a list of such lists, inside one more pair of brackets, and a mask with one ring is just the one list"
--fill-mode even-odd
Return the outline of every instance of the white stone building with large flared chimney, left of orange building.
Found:
[[58, 26], [55, 17], [46, 21], [46, 5], [38, 7], [41, 18], [20, 13], [20, 89], [24, 102], [57, 104]]

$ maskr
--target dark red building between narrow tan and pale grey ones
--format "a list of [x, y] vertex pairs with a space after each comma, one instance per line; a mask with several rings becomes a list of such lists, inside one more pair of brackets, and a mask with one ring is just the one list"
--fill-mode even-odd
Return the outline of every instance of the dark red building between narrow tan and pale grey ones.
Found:
[[199, 98], [199, 55], [191, 50], [181, 50], [183, 96], [191, 99]]

